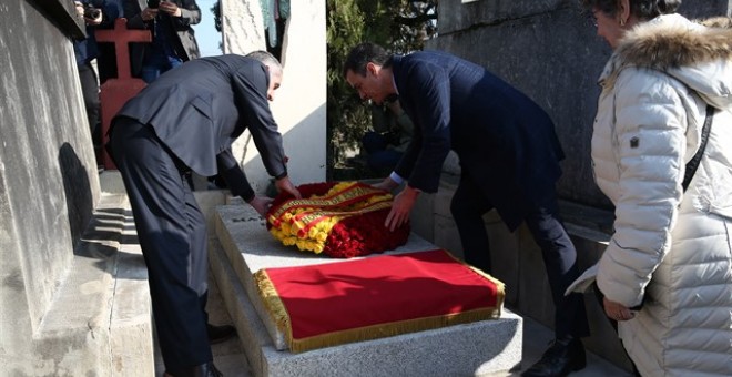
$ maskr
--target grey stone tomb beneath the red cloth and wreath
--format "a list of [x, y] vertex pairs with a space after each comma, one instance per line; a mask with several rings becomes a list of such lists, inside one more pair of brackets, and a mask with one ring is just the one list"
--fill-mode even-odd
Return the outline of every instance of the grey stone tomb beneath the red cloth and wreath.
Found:
[[[485, 376], [521, 360], [522, 319], [501, 317], [293, 354], [266, 314], [252, 274], [262, 268], [338, 263], [283, 246], [246, 205], [218, 206], [211, 267], [254, 376]], [[413, 234], [388, 254], [438, 248]]]

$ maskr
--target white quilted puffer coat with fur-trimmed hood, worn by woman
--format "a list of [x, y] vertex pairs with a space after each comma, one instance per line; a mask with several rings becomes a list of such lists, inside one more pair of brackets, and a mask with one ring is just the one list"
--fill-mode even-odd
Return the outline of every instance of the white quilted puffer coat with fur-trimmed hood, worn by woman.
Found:
[[[618, 329], [643, 376], [732, 376], [732, 29], [678, 14], [644, 22], [600, 84], [592, 163], [614, 234], [576, 284], [597, 274], [609, 299], [644, 299]], [[716, 113], [684, 193], [708, 104]]]

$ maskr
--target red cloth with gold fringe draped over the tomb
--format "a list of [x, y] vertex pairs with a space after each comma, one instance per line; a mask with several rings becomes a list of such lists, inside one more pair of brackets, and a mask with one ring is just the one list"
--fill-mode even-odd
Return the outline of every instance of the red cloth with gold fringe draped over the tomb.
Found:
[[470, 310], [496, 317], [502, 283], [444, 249], [266, 268], [293, 339]]

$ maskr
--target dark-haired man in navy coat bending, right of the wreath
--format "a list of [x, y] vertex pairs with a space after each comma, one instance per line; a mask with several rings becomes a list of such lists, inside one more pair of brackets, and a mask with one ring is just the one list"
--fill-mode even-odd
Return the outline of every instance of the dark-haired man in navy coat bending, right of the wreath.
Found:
[[482, 67], [443, 52], [387, 54], [355, 47], [344, 75], [362, 99], [397, 94], [415, 124], [413, 142], [392, 175], [377, 184], [405, 188], [386, 226], [408, 221], [420, 192], [434, 193], [450, 150], [460, 159], [460, 183], [450, 211], [466, 262], [490, 272], [482, 215], [496, 208], [509, 227], [526, 222], [542, 256], [556, 304], [556, 339], [527, 376], [561, 376], [584, 367], [580, 337], [589, 334], [582, 296], [565, 296], [579, 275], [577, 253], [558, 218], [555, 184], [563, 152], [553, 123], [535, 102]]

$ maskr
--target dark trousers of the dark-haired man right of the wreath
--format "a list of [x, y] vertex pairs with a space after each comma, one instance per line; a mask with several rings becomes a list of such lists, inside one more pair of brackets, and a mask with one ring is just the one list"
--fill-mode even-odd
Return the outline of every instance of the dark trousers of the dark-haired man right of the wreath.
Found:
[[[546, 193], [541, 205], [529, 211], [525, 222], [541, 248], [549, 287], [555, 303], [555, 336], [570, 339], [588, 336], [589, 325], [581, 294], [565, 296], [565, 291], [579, 277], [577, 251], [558, 215], [556, 193]], [[516, 205], [521, 205], [517, 203]], [[491, 273], [490, 246], [482, 215], [494, 205], [478, 185], [462, 174], [450, 205], [460, 233], [466, 262]]]

